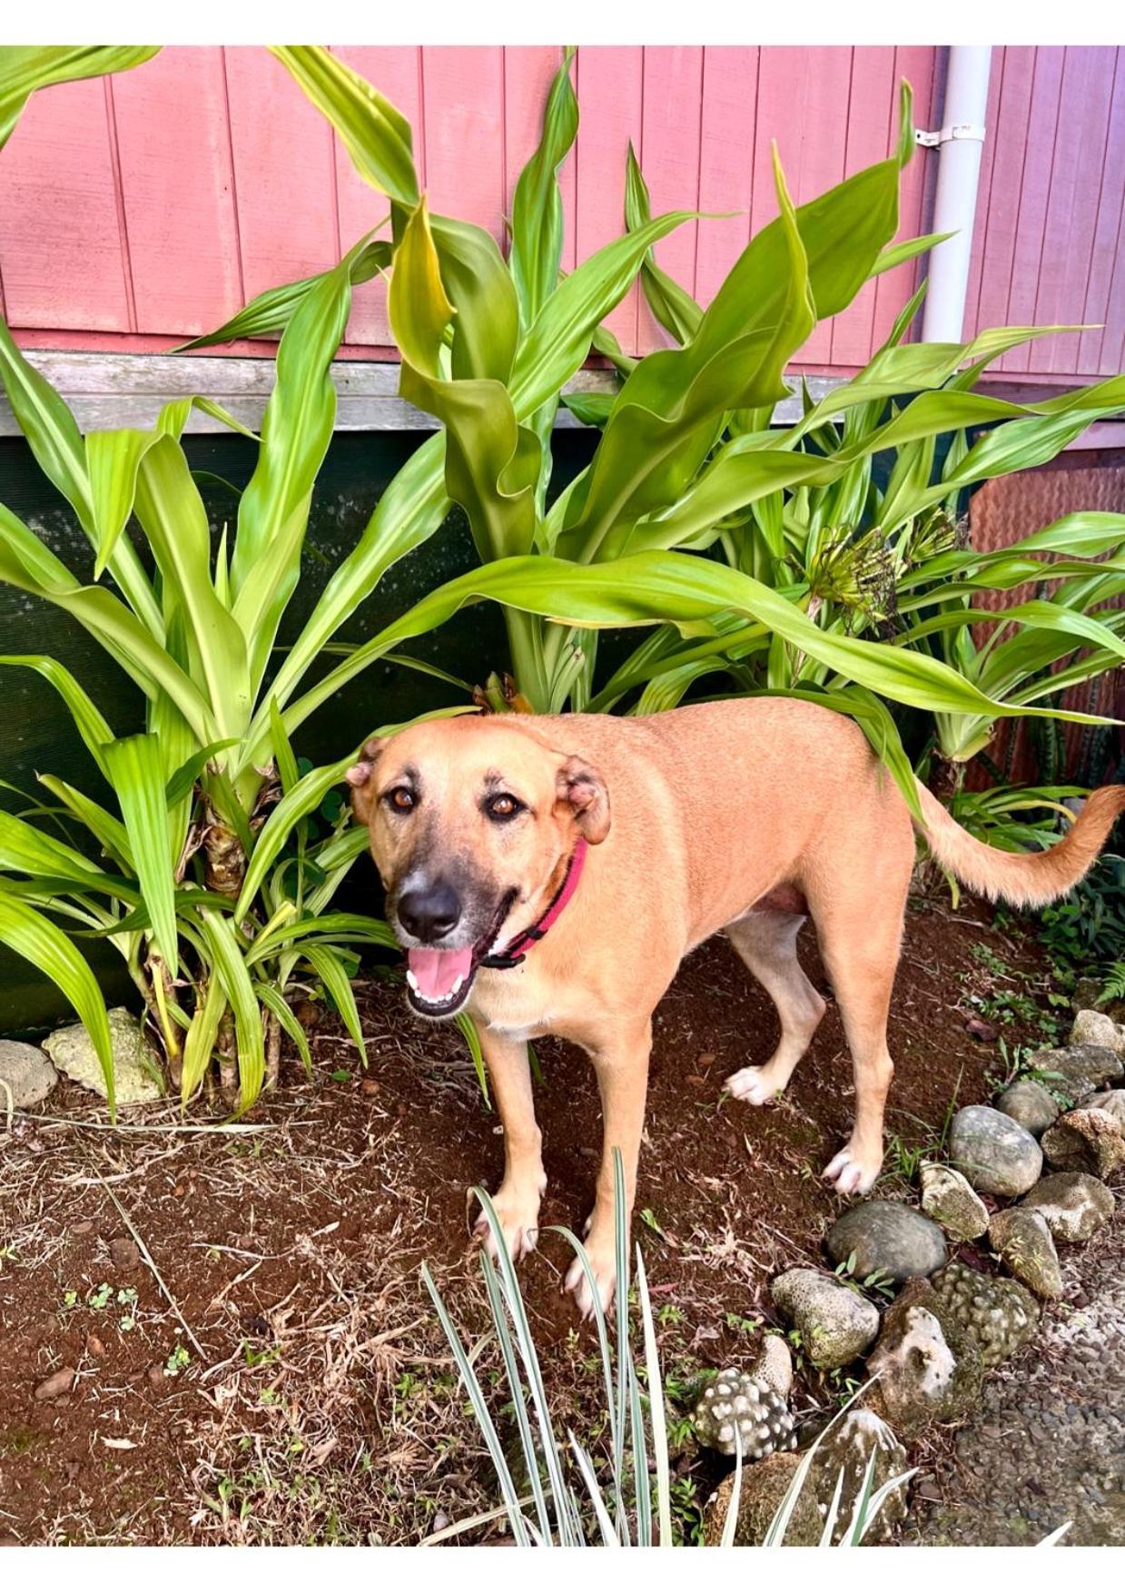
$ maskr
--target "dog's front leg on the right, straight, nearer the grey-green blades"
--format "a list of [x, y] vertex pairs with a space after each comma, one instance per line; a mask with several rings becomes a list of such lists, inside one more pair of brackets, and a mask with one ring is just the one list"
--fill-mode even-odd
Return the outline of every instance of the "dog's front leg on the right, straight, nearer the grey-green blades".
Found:
[[[594, 1070], [601, 1092], [603, 1138], [597, 1199], [586, 1226], [586, 1253], [603, 1309], [613, 1302], [617, 1282], [613, 1153], [619, 1149], [624, 1162], [625, 1226], [629, 1227], [636, 1196], [636, 1161], [644, 1130], [644, 1095], [651, 1049], [652, 1025], [649, 1019], [644, 1020], [643, 1027], [614, 1033], [605, 1043], [592, 1048]], [[566, 1288], [574, 1294], [581, 1313], [592, 1315], [590, 1282], [586, 1267], [578, 1259], [566, 1272]]]

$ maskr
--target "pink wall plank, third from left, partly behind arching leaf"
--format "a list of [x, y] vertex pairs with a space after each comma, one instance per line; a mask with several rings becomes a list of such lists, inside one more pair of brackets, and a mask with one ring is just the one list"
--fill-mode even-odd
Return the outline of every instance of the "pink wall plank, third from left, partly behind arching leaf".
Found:
[[248, 299], [334, 266], [333, 129], [266, 49], [224, 48], [231, 153]]

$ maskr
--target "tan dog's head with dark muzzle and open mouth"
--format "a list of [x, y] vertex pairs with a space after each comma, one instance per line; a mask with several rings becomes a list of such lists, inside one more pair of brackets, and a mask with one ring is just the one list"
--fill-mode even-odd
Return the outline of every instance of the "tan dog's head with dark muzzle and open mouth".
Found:
[[481, 958], [543, 915], [578, 837], [609, 833], [600, 774], [528, 720], [414, 724], [369, 740], [347, 778], [423, 1017], [455, 1016]]

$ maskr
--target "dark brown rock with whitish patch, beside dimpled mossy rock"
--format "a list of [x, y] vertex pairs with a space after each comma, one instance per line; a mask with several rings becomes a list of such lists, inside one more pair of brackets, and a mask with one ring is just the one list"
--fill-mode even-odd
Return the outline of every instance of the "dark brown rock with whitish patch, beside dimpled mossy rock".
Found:
[[867, 1404], [904, 1438], [939, 1420], [958, 1420], [980, 1393], [975, 1339], [920, 1278], [883, 1313], [867, 1371], [878, 1375]]

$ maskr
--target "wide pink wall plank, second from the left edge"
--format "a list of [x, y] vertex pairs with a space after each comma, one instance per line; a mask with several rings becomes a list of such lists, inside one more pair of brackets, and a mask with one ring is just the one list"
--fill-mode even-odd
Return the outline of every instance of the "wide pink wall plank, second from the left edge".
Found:
[[170, 46], [113, 80], [137, 330], [210, 331], [245, 302], [218, 46]]

